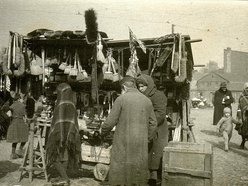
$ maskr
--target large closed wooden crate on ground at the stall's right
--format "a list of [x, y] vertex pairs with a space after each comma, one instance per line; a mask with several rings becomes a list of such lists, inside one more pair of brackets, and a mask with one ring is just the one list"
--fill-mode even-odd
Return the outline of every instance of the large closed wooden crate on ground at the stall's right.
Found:
[[211, 186], [213, 150], [210, 144], [170, 142], [164, 148], [162, 186]]

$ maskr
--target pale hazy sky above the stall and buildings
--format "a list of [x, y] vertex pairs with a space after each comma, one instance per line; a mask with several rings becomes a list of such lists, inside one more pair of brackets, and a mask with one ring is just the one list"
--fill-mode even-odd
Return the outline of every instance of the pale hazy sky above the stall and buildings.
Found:
[[216, 61], [223, 67], [224, 49], [248, 52], [248, 1], [203, 0], [0, 0], [0, 46], [9, 31], [22, 35], [39, 29], [85, 30], [85, 10], [97, 13], [98, 29], [111, 39], [172, 32], [202, 39], [192, 43], [194, 63]]

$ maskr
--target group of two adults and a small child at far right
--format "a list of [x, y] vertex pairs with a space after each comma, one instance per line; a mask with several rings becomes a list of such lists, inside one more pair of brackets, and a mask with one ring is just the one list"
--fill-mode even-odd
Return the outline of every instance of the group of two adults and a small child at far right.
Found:
[[228, 144], [232, 137], [233, 124], [235, 129], [242, 136], [240, 148], [245, 148], [245, 141], [248, 139], [248, 83], [244, 84], [243, 92], [238, 100], [238, 110], [236, 119], [232, 115], [232, 106], [234, 98], [230, 90], [227, 89], [227, 83], [222, 82], [219, 90], [213, 97], [214, 116], [213, 125], [217, 126], [217, 131], [223, 136], [224, 150], [228, 152]]

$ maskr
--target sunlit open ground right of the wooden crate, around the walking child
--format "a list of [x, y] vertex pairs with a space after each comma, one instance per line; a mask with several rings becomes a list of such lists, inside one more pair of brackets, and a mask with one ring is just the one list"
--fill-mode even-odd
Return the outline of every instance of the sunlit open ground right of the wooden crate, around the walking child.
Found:
[[[236, 105], [233, 110], [235, 116]], [[216, 133], [216, 126], [212, 125], [212, 115], [213, 109], [192, 109], [191, 111], [191, 117], [195, 118], [193, 130], [197, 142], [209, 143], [213, 146], [213, 185], [248, 185], [248, 150], [239, 149], [241, 136], [233, 130], [229, 151], [225, 152], [223, 139]]]

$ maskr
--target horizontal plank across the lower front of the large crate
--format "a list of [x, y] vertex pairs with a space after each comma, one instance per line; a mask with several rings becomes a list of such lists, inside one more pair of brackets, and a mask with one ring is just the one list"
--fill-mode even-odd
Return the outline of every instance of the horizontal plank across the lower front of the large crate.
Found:
[[165, 172], [188, 174], [188, 175], [202, 177], [202, 178], [211, 178], [212, 177], [212, 172], [211, 171], [199, 171], [199, 170], [192, 170], [192, 169], [182, 169], [182, 168], [177, 168], [177, 167], [165, 167]]

